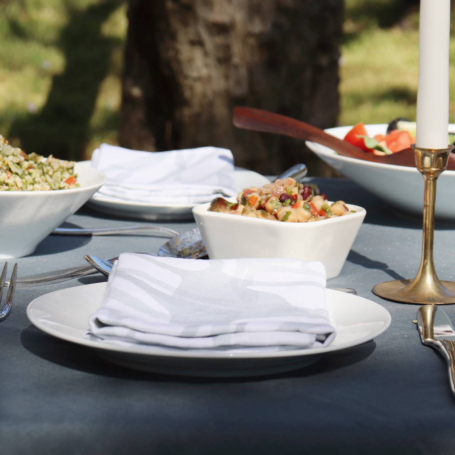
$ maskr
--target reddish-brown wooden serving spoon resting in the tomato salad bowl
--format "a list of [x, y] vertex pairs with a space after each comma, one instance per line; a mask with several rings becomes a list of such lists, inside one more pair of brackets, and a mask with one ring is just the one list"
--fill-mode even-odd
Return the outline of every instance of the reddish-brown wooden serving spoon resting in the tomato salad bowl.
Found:
[[[282, 134], [295, 137], [303, 141], [312, 141], [331, 148], [343, 157], [356, 158], [376, 163], [394, 164], [396, 166], [415, 167], [415, 153], [412, 148], [406, 148], [391, 155], [374, 155], [364, 152], [349, 142], [332, 136], [316, 126], [308, 125], [303, 121], [291, 117], [275, 114], [274, 112], [254, 109], [253, 107], [236, 107], [233, 114], [233, 123], [238, 128], [266, 133]], [[455, 170], [455, 154], [451, 153], [447, 169]]]

